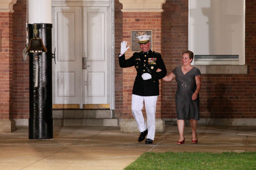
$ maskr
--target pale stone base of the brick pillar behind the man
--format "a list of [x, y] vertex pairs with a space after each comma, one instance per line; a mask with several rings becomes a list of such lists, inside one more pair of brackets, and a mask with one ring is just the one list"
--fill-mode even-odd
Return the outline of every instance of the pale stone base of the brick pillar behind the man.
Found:
[[[145, 119], [147, 123], [147, 120]], [[164, 133], [165, 121], [156, 119], [156, 133]], [[120, 133], [140, 133], [135, 119], [123, 119], [120, 122]]]

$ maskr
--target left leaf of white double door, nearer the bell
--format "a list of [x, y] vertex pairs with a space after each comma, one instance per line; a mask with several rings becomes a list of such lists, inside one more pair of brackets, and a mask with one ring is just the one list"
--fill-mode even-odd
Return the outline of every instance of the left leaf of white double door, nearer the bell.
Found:
[[53, 32], [56, 64], [53, 64], [53, 102], [81, 107], [81, 7], [54, 7]]

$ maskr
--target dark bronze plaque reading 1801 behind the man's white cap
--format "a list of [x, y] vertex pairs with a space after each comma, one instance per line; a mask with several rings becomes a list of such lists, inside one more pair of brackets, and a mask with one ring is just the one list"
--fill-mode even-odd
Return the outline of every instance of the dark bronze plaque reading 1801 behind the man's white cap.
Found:
[[137, 36], [140, 35], [151, 35], [149, 38], [149, 41], [151, 42], [150, 49], [152, 49], [152, 30], [148, 31], [131, 31], [131, 51], [136, 52], [136, 51], [141, 51], [140, 44], [138, 43], [139, 40], [136, 38]]

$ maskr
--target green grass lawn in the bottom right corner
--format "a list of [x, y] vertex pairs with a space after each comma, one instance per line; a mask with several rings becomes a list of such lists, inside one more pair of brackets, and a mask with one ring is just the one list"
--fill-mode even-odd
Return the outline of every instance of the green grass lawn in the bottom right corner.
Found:
[[256, 152], [146, 152], [124, 170], [256, 169]]

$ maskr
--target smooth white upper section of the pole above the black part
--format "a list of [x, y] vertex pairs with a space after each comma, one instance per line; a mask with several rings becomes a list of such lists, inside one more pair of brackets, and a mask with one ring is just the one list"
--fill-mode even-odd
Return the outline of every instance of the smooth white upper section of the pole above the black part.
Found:
[[28, 23], [51, 24], [51, 0], [28, 0]]

